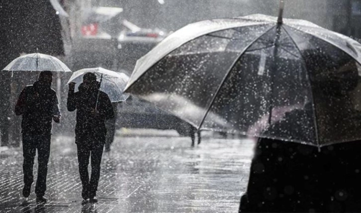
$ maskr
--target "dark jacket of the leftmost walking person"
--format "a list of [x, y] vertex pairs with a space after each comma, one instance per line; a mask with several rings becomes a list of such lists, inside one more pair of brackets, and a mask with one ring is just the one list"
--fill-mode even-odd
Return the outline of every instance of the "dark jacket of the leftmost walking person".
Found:
[[55, 90], [39, 81], [26, 86], [19, 95], [15, 114], [22, 115], [23, 133], [50, 135], [53, 116], [60, 116]]

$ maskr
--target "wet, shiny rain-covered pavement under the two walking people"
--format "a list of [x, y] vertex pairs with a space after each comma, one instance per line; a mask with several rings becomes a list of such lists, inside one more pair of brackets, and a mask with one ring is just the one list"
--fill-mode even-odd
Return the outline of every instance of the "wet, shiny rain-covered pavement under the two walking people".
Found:
[[103, 154], [99, 201], [84, 206], [72, 137], [53, 137], [45, 206], [35, 204], [35, 181], [30, 204], [21, 205], [22, 150], [2, 148], [0, 212], [235, 213], [247, 187], [252, 144], [204, 134], [191, 148], [190, 138], [172, 132], [118, 134], [112, 150]]

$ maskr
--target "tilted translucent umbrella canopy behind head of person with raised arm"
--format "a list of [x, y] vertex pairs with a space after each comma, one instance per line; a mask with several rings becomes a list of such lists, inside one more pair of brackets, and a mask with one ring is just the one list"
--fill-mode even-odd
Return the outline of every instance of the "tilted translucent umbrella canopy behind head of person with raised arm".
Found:
[[78, 87], [83, 82], [83, 76], [87, 72], [95, 73], [97, 81], [100, 82], [100, 90], [109, 96], [111, 102], [125, 101], [129, 97], [129, 95], [123, 93], [129, 80], [129, 76], [123, 72], [115, 72], [103, 68], [86, 68], [74, 72], [67, 84], [75, 82], [75, 91], [79, 91]]

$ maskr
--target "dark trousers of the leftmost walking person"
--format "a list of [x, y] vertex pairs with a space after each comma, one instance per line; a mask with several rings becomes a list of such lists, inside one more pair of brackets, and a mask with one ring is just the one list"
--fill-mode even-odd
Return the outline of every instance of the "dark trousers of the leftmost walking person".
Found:
[[46, 191], [46, 176], [48, 174], [48, 161], [50, 156], [50, 134], [36, 135], [23, 133], [22, 149], [24, 162], [24, 184], [29, 186], [34, 181], [33, 167], [36, 150], [38, 150], [38, 177], [36, 180], [36, 196], [44, 196]]

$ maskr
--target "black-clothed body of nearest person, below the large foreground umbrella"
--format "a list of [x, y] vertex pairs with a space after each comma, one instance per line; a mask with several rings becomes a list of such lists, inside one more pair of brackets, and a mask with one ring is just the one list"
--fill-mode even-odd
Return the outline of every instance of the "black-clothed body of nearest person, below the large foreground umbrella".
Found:
[[[298, 112], [285, 117], [294, 113]], [[275, 127], [284, 130], [281, 125], [286, 122]], [[360, 141], [319, 150], [296, 142], [259, 139], [255, 148], [240, 212], [361, 211]]]

